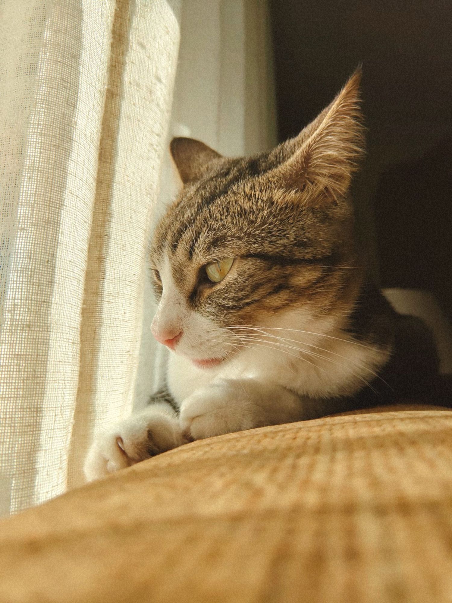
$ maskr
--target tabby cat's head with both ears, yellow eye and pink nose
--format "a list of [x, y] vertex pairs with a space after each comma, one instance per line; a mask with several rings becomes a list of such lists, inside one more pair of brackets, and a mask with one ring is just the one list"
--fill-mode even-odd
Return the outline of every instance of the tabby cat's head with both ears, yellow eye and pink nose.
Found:
[[242, 353], [248, 326], [289, 316], [303, 329], [345, 314], [359, 279], [347, 270], [348, 190], [363, 148], [359, 81], [356, 72], [297, 137], [268, 153], [228, 159], [198, 140], [172, 140], [184, 187], [150, 252], [160, 342], [209, 367]]

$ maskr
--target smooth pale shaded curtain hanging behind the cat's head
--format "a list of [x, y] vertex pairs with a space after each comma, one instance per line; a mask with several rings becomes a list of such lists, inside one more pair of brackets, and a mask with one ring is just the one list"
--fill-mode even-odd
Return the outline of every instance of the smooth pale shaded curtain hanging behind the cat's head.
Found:
[[[192, 136], [227, 156], [258, 153], [277, 144], [274, 75], [265, 0], [196, 0], [183, 3], [172, 136]], [[169, 153], [163, 159], [159, 213], [180, 181]], [[165, 379], [168, 350], [149, 329], [155, 312], [150, 279], [136, 379], [136, 408]]]

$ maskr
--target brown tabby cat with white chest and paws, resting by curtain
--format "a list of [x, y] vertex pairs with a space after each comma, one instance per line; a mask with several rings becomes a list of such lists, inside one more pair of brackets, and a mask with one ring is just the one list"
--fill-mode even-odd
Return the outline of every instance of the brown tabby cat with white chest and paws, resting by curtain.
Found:
[[149, 251], [168, 391], [96, 438], [88, 479], [190, 440], [428, 393], [432, 337], [372, 286], [354, 241], [360, 77], [267, 153], [172, 140], [184, 186]]

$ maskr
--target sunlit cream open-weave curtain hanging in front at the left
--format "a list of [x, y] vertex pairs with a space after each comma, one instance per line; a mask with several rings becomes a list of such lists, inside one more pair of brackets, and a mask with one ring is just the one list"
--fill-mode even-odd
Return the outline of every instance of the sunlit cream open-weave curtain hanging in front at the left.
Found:
[[178, 2], [0, 0], [0, 511], [130, 411]]

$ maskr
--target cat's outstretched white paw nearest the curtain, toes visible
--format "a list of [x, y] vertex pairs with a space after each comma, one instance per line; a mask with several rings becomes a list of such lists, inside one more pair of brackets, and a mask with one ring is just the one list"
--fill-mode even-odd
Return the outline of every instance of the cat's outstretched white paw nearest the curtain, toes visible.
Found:
[[150, 405], [95, 438], [85, 461], [86, 478], [104, 478], [186, 441], [171, 407], [164, 403]]

